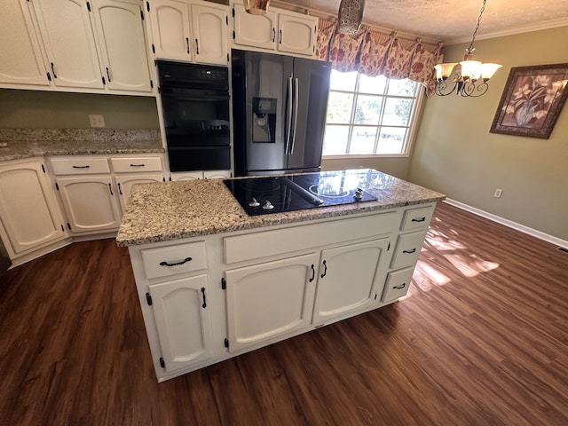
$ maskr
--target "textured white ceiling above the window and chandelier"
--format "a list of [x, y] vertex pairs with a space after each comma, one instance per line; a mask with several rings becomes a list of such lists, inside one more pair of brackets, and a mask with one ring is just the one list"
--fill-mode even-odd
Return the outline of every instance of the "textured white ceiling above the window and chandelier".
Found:
[[[286, 0], [337, 15], [340, 0]], [[483, 0], [367, 0], [363, 22], [446, 43], [471, 39]], [[487, 0], [477, 39], [568, 25], [568, 0]]]

